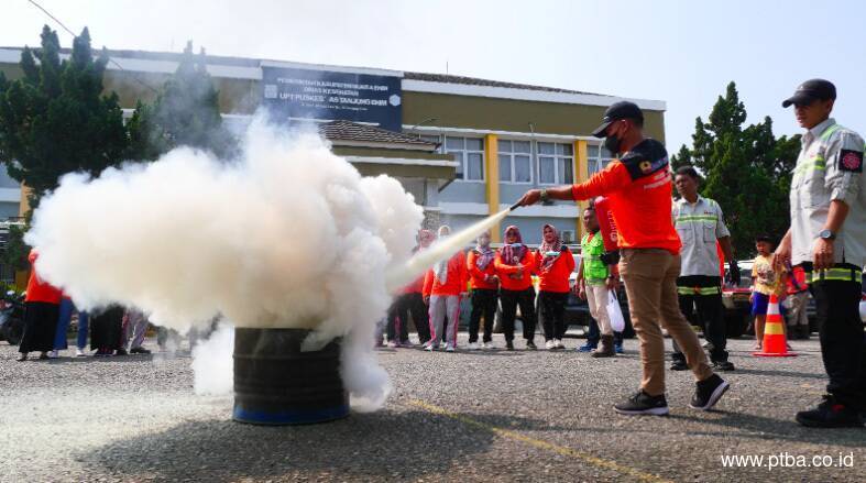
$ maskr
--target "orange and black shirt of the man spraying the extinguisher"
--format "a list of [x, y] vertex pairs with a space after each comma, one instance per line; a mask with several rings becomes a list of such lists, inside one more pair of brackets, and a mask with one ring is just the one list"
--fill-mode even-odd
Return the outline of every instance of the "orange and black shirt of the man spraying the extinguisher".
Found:
[[664, 249], [676, 255], [682, 243], [670, 219], [670, 194], [668, 152], [651, 139], [571, 187], [575, 200], [610, 198], [621, 249]]

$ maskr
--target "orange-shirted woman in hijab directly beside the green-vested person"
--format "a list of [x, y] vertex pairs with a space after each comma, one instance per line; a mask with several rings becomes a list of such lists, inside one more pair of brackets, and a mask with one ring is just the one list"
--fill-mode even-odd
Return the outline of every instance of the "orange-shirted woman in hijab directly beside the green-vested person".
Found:
[[548, 350], [564, 349], [562, 336], [566, 333], [566, 301], [570, 289], [569, 276], [574, 271], [574, 255], [562, 244], [559, 231], [552, 224], [545, 224], [541, 239], [535, 260], [545, 347]]

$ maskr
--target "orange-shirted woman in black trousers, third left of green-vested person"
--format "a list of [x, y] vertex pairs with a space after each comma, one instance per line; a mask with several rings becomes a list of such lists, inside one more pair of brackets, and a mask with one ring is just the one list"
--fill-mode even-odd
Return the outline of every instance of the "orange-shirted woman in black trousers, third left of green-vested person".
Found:
[[472, 312], [469, 318], [469, 345], [471, 351], [478, 350], [478, 330], [481, 316], [484, 315], [484, 339], [482, 349], [493, 349], [493, 320], [496, 317], [500, 277], [493, 259], [496, 253], [490, 248], [490, 232], [478, 238], [478, 245], [467, 256], [469, 286], [472, 289]]

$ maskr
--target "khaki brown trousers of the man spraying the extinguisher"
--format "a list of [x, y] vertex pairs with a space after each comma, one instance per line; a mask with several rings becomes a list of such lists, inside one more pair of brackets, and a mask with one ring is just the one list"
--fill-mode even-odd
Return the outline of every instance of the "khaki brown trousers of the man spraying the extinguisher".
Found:
[[665, 394], [665, 339], [668, 330], [686, 354], [698, 381], [713, 375], [698, 336], [680, 312], [677, 277], [680, 255], [661, 249], [623, 249], [620, 274], [628, 295], [632, 326], [640, 343], [644, 376], [640, 388], [650, 396]]

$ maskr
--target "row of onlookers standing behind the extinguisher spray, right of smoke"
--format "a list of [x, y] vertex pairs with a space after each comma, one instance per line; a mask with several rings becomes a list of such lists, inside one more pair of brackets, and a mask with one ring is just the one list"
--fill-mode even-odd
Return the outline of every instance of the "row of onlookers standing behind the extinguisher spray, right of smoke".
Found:
[[[583, 224], [587, 234], [581, 243], [583, 255], [578, 257], [581, 264], [577, 267], [574, 253], [562, 243], [559, 231], [551, 224], [542, 228], [542, 242], [537, 249], [524, 244], [520, 230], [515, 226], [505, 229], [504, 243], [496, 250], [491, 246], [491, 233], [482, 233], [474, 248], [438, 263], [401, 290], [385, 322], [387, 347], [416, 347], [409, 339], [412, 320], [423, 349], [436, 351], [445, 343], [445, 351], [453, 352], [458, 347], [460, 301], [468, 297], [471, 312], [467, 350], [496, 349], [493, 326], [500, 305], [506, 350], [514, 350], [518, 308], [527, 350], [538, 349], [535, 343], [538, 319], [545, 348], [566, 349], [566, 304], [569, 292], [573, 290], [574, 295], [588, 300], [592, 315], [588, 342], [575, 349], [591, 352], [595, 358], [622, 353], [622, 332], [613, 331], [606, 309], [609, 292], [618, 288], [620, 279], [615, 275], [616, 267], [601, 260], [604, 248], [594, 207], [584, 211]], [[437, 238], [448, 237], [450, 231], [450, 227], [442, 226], [437, 237], [429, 230], [420, 230], [416, 250], [427, 249]], [[572, 283], [570, 277], [575, 272]], [[381, 337], [377, 342], [384, 344]]]

